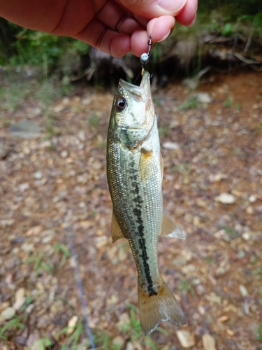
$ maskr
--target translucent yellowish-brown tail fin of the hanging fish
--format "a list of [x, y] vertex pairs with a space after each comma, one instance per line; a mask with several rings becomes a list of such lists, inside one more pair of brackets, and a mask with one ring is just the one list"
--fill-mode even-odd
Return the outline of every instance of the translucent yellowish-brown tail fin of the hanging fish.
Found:
[[143, 288], [138, 286], [138, 300], [141, 328], [145, 335], [153, 332], [161, 322], [186, 324], [180, 304], [163, 280], [156, 295], [148, 295]]

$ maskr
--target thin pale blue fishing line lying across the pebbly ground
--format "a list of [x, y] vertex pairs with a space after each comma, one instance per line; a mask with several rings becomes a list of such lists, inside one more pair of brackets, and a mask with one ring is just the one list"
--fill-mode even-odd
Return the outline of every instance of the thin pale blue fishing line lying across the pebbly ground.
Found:
[[71, 232], [70, 232], [68, 227], [66, 227], [66, 232], [67, 232], [66, 235], [67, 235], [67, 239], [68, 239], [68, 243], [69, 243], [71, 257], [72, 257], [72, 260], [73, 260], [73, 268], [75, 270], [75, 279], [76, 279], [76, 282], [78, 283], [78, 290], [79, 290], [79, 293], [80, 293], [80, 300], [81, 300], [81, 304], [82, 304], [82, 309], [84, 311], [86, 330], [87, 330], [87, 333], [89, 335], [89, 340], [90, 340], [90, 344], [91, 344], [92, 350], [96, 350], [96, 348], [94, 346], [93, 333], [92, 333], [92, 330], [91, 330], [90, 325], [89, 325], [87, 304], [85, 302], [84, 290], [82, 288], [82, 281], [81, 281], [81, 277], [80, 277], [80, 273], [79, 273], [79, 269], [78, 269], [78, 262], [76, 261], [75, 248], [73, 246], [73, 239], [72, 239], [72, 235], [71, 235]]

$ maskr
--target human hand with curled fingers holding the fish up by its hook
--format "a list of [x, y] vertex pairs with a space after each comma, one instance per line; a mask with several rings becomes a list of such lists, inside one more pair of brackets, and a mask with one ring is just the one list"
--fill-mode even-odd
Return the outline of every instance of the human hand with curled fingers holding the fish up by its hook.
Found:
[[29, 29], [72, 36], [114, 57], [140, 56], [175, 25], [191, 25], [197, 0], [1, 0], [0, 16]]

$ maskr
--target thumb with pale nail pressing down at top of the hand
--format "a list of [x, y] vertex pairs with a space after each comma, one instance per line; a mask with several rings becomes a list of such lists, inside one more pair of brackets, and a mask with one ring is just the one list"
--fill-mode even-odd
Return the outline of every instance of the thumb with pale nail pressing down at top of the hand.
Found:
[[187, 0], [118, 0], [126, 9], [151, 20], [163, 15], [175, 17], [184, 8]]

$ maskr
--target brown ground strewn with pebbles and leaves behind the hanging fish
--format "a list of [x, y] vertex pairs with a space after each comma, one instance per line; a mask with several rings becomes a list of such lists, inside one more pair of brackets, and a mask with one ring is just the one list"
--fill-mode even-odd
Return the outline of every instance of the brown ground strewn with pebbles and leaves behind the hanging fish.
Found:
[[[159, 239], [159, 271], [187, 325], [162, 323], [148, 337], [131, 250], [110, 237], [105, 142], [114, 91], [82, 87], [57, 99], [51, 133], [43, 102], [29, 95], [11, 111], [2, 99], [0, 140], [10, 153], [0, 160], [1, 349], [91, 348], [66, 226], [97, 349], [262, 349], [262, 73], [210, 73], [196, 92], [212, 101], [197, 102], [182, 82], [153, 92], [165, 209], [187, 232], [185, 241]], [[41, 137], [10, 137], [10, 123], [24, 119]], [[187, 344], [177, 330], [188, 331]]]

